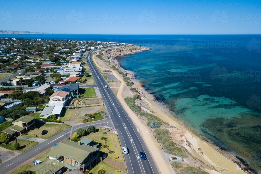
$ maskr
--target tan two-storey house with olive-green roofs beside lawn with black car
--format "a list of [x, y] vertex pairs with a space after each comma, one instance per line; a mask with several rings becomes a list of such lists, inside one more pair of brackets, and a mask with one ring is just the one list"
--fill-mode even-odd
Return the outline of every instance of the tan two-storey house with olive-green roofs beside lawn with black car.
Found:
[[31, 115], [26, 115], [18, 118], [17, 120], [13, 121], [13, 125], [4, 129], [2, 132], [13, 136], [14, 134], [21, 135], [23, 133], [27, 133], [32, 128], [35, 128], [37, 124], [37, 119]]

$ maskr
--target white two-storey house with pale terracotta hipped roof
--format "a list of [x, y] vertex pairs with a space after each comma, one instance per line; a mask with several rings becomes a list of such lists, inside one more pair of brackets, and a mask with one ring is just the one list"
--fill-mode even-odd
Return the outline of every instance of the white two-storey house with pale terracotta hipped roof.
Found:
[[66, 103], [68, 101], [68, 99], [70, 99], [71, 97], [69, 96], [69, 92], [66, 91], [58, 91], [58, 92], [54, 92], [50, 97], [50, 101], [48, 104], [48, 106], [54, 106], [54, 105], [60, 105], [60, 106], [66, 106]]

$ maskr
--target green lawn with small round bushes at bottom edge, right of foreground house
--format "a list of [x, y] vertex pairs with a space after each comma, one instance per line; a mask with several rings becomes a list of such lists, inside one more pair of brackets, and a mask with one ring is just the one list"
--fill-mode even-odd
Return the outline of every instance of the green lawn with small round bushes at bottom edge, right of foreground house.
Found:
[[96, 174], [100, 169], [106, 171], [106, 174], [115, 174], [116, 170], [120, 170], [120, 174], [127, 174], [127, 170], [125, 168], [115, 168], [104, 161], [99, 162], [93, 169], [90, 171], [89, 174]]

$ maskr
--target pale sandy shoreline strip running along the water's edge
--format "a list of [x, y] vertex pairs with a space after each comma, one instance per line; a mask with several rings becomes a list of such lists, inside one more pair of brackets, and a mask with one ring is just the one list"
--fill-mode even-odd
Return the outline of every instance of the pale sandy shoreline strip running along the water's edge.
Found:
[[[165, 121], [165, 122], [167, 122], [167, 123], [169, 123], [171, 125], [174, 125], [174, 126], [178, 127], [180, 130], [188, 131], [192, 135], [192, 139], [194, 138], [194, 139], [198, 140], [197, 142], [194, 142], [195, 143], [194, 146], [199, 147], [199, 145], [201, 145], [201, 146], [203, 146], [203, 148], [204, 147], [206, 148], [206, 146], [212, 148], [212, 151], [209, 148], [208, 148], [208, 150], [205, 150], [204, 155], [203, 155], [203, 159], [205, 160], [204, 162], [209, 162], [209, 163], [212, 162], [211, 164], [215, 164], [216, 167], [218, 167], [220, 169], [224, 169], [224, 171], [222, 173], [234, 173], [234, 172], [236, 172], [236, 173], [245, 173], [245, 172], [249, 172], [247, 167], [245, 167], [237, 158], [235, 158], [228, 151], [221, 149], [214, 142], [209, 142], [209, 141], [206, 141], [206, 140], [202, 139], [198, 135], [198, 133], [196, 131], [194, 131], [193, 129], [189, 128], [187, 125], [183, 124], [181, 121], [176, 119], [175, 116], [177, 116], [177, 115], [175, 115], [175, 113], [171, 113], [171, 111], [168, 109], [168, 107], [163, 102], [160, 102], [160, 101], [156, 100], [155, 96], [153, 94], [151, 94], [150, 91], [147, 91], [142, 86], [142, 84], [137, 79], [134, 78], [135, 72], [123, 69], [120, 66], [120, 63], [119, 63], [117, 57], [131, 55], [131, 54], [135, 54], [135, 53], [146, 51], [146, 50], [151, 50], [151, 49], [145, 49], [145, 47], [143, 47], [143, 48], [144, 49], [142, 49], [142, 50], [134, 51], [134, 52], [131, 52], [131, 53], [126, 53], [124, 55], [111, 56], [111, 62], [116, 63], [119, 70], [127, 73], [127, 76], [129, 76], [131, 78], [131, 80], [134, 83], [135, 87], [137, 87], [139, 89], [138, 90], [139, 93], [144, 94], [144, 97], [147, 98], [149, 100], [149, 102], [151, 102], [151, 105], [154, 105], [153, 106], [153, 109], [154, 109], [153, 111], [159, 110], [163, 115], [165, 115], [165, 118], [162, 118], [162, 114], [158, 114], [158, 115], [155, 114], [157, 117], [161, 118], [163, 121]], [[166, 117], [168, 117], [169, 119], [167, 119]], [[192, 140], [192, 141], [195, 141], [195, 140]], [[192, 149], [189, 146], [186, 149], [191, 154], [193, 154], [193, 155], [195, 154], [195, 149]], [[213, 150], [215, 152], [217, 152], [218, 154], [221, 154], [224, 159], [227, 159], [231, 163], [235, 164], [236, 166], [232, 167], [234, 169], [232, 169], [231, 167], [224, 167], [224, 165], [222, 165], [222, 164], [218, 165], [215, 162], [213, 162], [215, 160], [211, 161], [210, 160], [211, 156], [209, 156], [207, 154], [211, 154], [211, 153], [213, 154], [213, 152], [214, 152]], [[204, 151], [204, 150], [202, 150], [202, 151]], [[197, 155], [197, 154], [195, 154], [195, 155]], [[229, 164], [229, 165], [231, 165], [231, 164]], [[228, 168], [230, 168], [230, 169], [228, 169]]]

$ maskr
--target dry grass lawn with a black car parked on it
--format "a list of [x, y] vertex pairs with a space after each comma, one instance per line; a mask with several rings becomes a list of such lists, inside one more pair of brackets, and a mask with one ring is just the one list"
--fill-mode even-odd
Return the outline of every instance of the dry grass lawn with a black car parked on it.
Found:
[[[30, 130], [28, 132], [28, 135], [23, 134], [22, 136], [28, 136], [28, 137], [36, 137], [37, 138], [43, 138], [43, 139], [48, 139], [61, 131], [64, 131], [71, 126], [67, 124], [43, 124], [43, 123], [38, 123], [36, 125], [36, 128], [34, 130]], [[47, 134], [41, 135], [43, 130], [47, 130]]]

